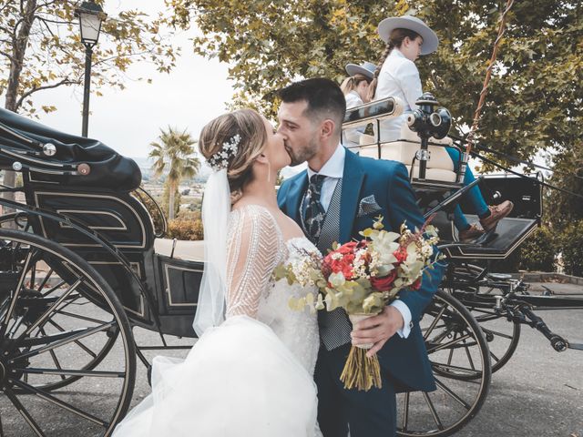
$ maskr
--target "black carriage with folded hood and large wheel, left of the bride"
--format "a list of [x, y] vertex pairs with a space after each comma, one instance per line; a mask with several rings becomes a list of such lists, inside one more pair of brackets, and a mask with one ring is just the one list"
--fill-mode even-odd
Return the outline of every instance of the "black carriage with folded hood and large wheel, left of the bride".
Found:
[[[201, 242], [157, 239], [138, 166], [97, 140], [2, 110], [0, 143], [23, 179], [3, 190], [24, 198], [0, 200], [14, 209], [0, 218], [0, 435], [108, 435], [136, 357], [195, 336]], [[137, 345], [134, 327], [160, 345]]]

